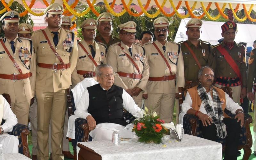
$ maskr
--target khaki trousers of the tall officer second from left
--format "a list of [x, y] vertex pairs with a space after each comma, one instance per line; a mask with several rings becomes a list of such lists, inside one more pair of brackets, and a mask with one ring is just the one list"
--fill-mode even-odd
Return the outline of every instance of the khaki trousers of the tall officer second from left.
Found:
[[[64, 159], [62, 139], [67, 109], [66, 89], [47, 92], [36, 89], [37, 99], [37, 159], [49, 159], [49, 124], [52, 127], [52, 159]], [[51, 121], [51, 123], [50, 123]]]

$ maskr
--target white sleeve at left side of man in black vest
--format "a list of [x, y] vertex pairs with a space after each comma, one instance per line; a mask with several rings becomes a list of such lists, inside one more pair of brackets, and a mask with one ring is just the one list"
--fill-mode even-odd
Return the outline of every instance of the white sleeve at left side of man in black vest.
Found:
[[91, 115], [88, 113], [87, 109], [89, 107], [89, 93], [87, 88], [84, 90], [84, 93], [82, 94], [81, 99], [77, 103], [76, 110], [75, 110], [75, 116], [79, 118], [86, 119], [87, 116]]

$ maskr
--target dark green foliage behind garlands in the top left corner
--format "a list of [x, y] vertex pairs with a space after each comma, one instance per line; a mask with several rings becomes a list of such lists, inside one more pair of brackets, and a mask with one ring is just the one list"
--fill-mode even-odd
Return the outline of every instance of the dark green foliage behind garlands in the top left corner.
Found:
[[[2, 9], [4, 9], [4, 5], [0, 3], [0, 10]], [[26, 10], [22, 4], [19, 4], [16, 1], [12, 3], [10, 9], [12, 9], [13, 11], [17, 11], [18, 13], [24, 12]], [[4, 13], [0, 14], [0, 17], [4, 15]], [[20, 23], [28, 23], [30, 26], [32, 27], [34, 26], [34, 22], [28, 14], [24, 17], [20, 17]], [[0, 28], [1, 28], [0, 37], [4, 37], [4, 31], [2, 30], [2, 23], [0, 23]]]

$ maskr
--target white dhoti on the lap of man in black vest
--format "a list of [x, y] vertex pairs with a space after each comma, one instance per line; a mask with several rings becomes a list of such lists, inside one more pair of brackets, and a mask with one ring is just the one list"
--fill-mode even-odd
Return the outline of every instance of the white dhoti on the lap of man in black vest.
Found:
[[132, 132], [133, 124], [126, 126], [114, 123], [101, 123], [97, 124], [96, 128], [89, 134], [92, 136], [92, 141], [98, 140], [112, 140], [112, 133], [114, 129], [119, 129], [122, 138], [135, 138], [136, 135]]

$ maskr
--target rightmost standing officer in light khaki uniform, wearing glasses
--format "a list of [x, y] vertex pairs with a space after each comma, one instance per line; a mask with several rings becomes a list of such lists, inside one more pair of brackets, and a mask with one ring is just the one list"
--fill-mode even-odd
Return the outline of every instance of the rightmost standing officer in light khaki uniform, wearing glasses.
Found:
[[[159, 17], [153, 24], [156, 41], [144, 45], [150, 66], [148, 94], [144, 95], [145, 106], [156, 111], [166, 123], [170, 123], [175, 93], [178, 93], [178, 87], [184, 87], [183, 57], [180, 44], [167, 41], [170, 22], [164, 17]], [[178, 115], [179, 107], [176, 112]]]

